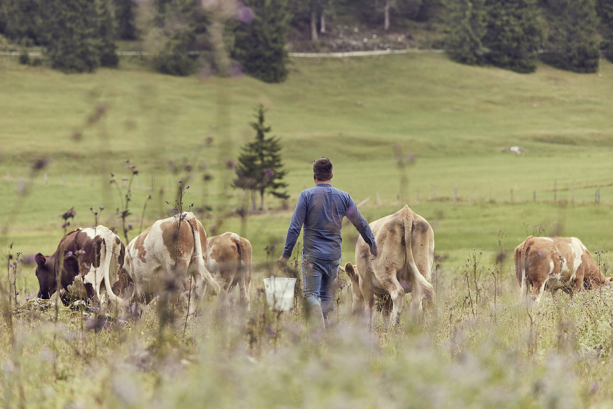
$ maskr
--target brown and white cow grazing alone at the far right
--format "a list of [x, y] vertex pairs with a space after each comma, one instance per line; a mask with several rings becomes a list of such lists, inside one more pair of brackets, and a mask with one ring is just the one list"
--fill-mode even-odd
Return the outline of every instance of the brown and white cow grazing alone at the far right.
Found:
[[528, 237], [515, 248], [515, 273], [521, 294], [532, 286], [530, 304], [538, 307], [545, 289], [569, 294], [582, 288], [598, 288], [611, 280], [577, 237]]

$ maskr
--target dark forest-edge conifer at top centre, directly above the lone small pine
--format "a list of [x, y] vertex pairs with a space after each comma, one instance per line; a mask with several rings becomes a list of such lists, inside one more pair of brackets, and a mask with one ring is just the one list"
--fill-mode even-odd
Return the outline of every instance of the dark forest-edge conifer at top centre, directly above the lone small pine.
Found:
[[287, 0], [247, 0], [255, 18], [235, 29], [233, 58], [245, 71], [264, 82], [287, 78], [287, 30], [291, 19]]

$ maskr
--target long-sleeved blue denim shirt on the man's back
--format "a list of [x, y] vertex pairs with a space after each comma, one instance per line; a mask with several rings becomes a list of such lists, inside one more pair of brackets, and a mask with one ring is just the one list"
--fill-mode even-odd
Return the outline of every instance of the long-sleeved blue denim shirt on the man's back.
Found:
[[305, 189], [298, 197], [298, 203], [289, 222], [283, 257], [289, 259], [300, 229], [304, 224], [303, 255], [310, 255], [321, 260], [341, 258], [341, 226], [343, 217], [356, 226], [364, 241], [370, 248], [376, 248], [375, 237], [368, 222], [357, 210], [356, 203], [349, 193], [333, 188], [329, 183], [319, 183], [313, 188]]

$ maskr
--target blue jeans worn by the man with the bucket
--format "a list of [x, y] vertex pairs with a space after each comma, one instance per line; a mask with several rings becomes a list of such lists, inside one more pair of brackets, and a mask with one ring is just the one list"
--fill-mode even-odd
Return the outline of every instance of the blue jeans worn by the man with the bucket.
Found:
[[334, 281], [337, 280], [341, 259], [322, 260], [302, 256], [302, 284], [307, 306], [319, 304], [324, 313], [334, 311]]

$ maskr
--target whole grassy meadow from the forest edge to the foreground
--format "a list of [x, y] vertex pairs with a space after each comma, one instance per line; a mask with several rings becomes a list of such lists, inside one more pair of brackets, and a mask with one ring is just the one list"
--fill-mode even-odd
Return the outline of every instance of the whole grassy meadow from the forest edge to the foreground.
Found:
[[[249, 312], [207, 300], [187, 326], [164, 325], [153, 306], [140, 318], [109, 311], [122, 320], [110, 327], [61, 305], [12, 316], [4, 292], [0, 407], [610, 407], [612, 290], [547, 296], [530, 312], [511, 271], [527, 234], [613, 250], [611, 78], [604, 60], [598, 74], [541, 65], [520, 75], [431, 53], [292, 59], [281, 84], [170, 77], [135, 58], [80, 75], [0, 59], [5, 252], [13, 243], [26, 261], [52, 253], [72, 206], [70, 227], [93, 224], [89, 207], [100, 205], [101, 223], [120, 226], [130, 159], [139, 175], [129, 239], [141, 221], [172, 213], [166, 201], [188, 180], [184, 202], [208, 234], [244, 235], [257, 266]], [[253, 137], [258, 103], [281, 137], [291, 198], [266, 197], [267, 210], [242, 221], [230, 210], [250, 199], [228, 186], [228, 164]], [[515, 145], [525, 154], [504, 151]], [[311, 336], [300, 300], [291, 313], [267, 312], [261, 279], [320, 156], [334, 162], [336, 187], [356, 202], [370, 197], [360, 207], [368, 221], [408, 203], [432, 224], [438, 304], [420, 323], [407, 316], [385, 331], [378, 319], [368, 334], [349, 315], [342, 274], [326, 341]], [[344, 264], [354, 258], [351, 225], [343, 238]], [[476, 269], [466, 266], [473, 249], [483, 253]], [[612, 275], [609, 265], [604, 254]], [[18, 305], [36, 296], [32, 264], [19, 264], [15, 281]]]

